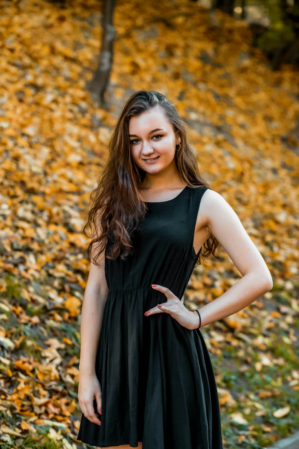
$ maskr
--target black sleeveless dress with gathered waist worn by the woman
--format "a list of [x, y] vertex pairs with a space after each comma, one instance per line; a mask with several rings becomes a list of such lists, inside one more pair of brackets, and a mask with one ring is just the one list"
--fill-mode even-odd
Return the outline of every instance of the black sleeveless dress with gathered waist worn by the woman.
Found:
[[[126, 261], [105, 259], [109, 288], [95, 361], [102, 389], [101, 425], [83, 414], [78, 440], [100, 447], [223, 449], [217, 386], [199, 329], [168, 313], [144, 316], [167, 301], [151, 284], [179, 299], [198, 259], [193, 247], [206, 187], [147, 202]], [[106, 252], [111, 244], [108, 238]], [[94, 400], [96, 411], [96, 402]]]

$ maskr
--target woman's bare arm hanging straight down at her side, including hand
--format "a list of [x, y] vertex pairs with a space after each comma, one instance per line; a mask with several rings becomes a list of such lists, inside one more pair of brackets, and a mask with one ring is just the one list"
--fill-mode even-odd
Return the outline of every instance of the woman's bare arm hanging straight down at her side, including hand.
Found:
[[[95, 234], [94, 234], [95, 235]], [[93, 238], [95, 238], [93, 236]], [[92, 260], [95, 256], [97, 243], [91, 251], [91, 266], [84, 292], [81, 311], [81, 349], [79, 362], [78, 401], [84, 416], [93, 423], [99, 424], [93, 406], [94, 398], [98, 413], [101, 413], [102, 391], [95, 374], [95, 357], [102, 328], [104, 307], [108, 295], [108, 285], [105, 277], [105, 251], [98, 258], [100, 267]]]

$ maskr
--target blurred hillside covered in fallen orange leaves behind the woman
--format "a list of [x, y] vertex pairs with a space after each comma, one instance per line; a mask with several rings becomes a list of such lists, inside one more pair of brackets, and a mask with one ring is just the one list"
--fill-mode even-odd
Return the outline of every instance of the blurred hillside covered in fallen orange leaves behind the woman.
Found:
[[[82, 226], [139, 89], [176, 104], [201, 175], [273, 277], [272, 291], [202, 329], [224, 448], [299, 429], [299, 1], [2, 0], [1, 448], [87, 447], [76, 440]], [[191, 310], [241, 277], [220, 255], [195, 268]]]

